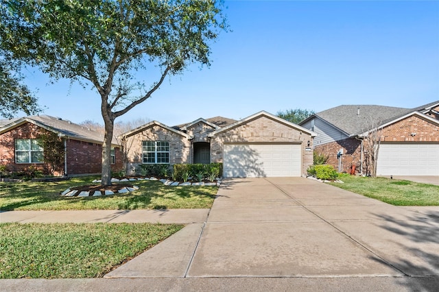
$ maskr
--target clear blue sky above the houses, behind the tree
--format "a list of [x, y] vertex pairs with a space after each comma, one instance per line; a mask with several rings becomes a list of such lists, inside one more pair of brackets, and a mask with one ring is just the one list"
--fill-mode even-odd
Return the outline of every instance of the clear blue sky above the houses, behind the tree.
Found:
[[[167, 78], [116, 121], [177, 125], [241, 119], [265, 110], [319, 112], [342, 104], [414, 108], [439, 100], [439, 1], [226, 1], [233, 32], [212, 45], [210, 68]], [[151, 82], [154, 80], [151, 80]], [[90, 86], [50, 84], [38, 72], [45, 114], [102, 123]]]

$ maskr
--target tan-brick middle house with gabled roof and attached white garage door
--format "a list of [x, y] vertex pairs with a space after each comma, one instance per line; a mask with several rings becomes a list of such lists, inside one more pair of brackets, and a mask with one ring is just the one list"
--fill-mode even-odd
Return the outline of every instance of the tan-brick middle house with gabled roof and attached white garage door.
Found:
[[240, 121], [200, 118], [176, 127], [152, 121], [120, 137], [130, 146], [131, 172], [141, 164], [222, 162], [224, 177], [235, 178], [306, 175], [313, 163], [314, 136], [304, 127], [258, 112]]

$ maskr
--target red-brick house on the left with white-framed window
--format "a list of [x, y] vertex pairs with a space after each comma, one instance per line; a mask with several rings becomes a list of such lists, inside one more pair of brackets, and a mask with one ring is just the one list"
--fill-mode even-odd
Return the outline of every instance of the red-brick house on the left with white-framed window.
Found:
[[[64, 141], [64, 175], [100, 173], [104, 135], [87, 127], [46, 115], [0, 120], [0, 165], [8, 171], [23, 171], [34, 166], [47, 172], [44, 149], [37, 139], [45, 131], [58, 134]], [[121, 169], [121, 151], [112, 142], [112, 168]]]

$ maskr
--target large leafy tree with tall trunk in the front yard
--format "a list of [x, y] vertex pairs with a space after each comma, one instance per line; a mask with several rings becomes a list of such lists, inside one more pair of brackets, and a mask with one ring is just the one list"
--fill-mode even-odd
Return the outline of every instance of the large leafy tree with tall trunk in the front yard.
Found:
[[[88, 82], [101, 99], [102, 184], [110, 184], [115, 119], [151, 97], [167, 75], [209, 66], [225, 28], [214, 0], [2, 1], [0, 47], [54, 80]], [[144, 80], [158, 68], [154, 79]], [[142, 72], [142, 73], [140, 73]], [[148, 84], [148, 85], [146, 85]]]

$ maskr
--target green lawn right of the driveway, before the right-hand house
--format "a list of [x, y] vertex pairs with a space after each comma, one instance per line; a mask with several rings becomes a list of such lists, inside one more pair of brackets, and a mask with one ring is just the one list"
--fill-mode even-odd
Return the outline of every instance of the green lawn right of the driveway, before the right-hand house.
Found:
[[344, 184], [331, 184], [395, 206], [439, 206], [439, 186], [433, 184], [351, 175], [339, 179]]

